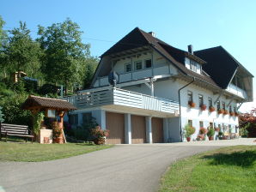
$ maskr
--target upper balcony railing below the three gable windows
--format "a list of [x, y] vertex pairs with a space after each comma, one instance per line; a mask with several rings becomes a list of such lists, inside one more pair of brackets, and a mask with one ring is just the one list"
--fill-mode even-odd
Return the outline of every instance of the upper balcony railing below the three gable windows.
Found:
[[[149, 69], [142, 69], [142, 70], [132, 71], [131, 73], [119, 74], [119, 83], [127, 82], [127, 81], [137, 81], [137, 80], [152, 77], [155, 75], [170, 75], [170, 74], [171, 73], [168, 65], [149, 68]], [[98, 78], [94, 83], [94, 87], [102, 87], [102, 86], [108, 86], [108, 85], [109, 83], [108, 83], [107, 76]]]

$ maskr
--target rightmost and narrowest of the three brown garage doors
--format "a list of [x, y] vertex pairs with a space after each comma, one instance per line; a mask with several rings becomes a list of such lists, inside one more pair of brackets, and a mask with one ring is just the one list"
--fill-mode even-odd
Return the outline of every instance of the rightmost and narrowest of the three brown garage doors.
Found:
[[163, 142], [162, 118], [152, 118], [152, 139], [154, 143]]

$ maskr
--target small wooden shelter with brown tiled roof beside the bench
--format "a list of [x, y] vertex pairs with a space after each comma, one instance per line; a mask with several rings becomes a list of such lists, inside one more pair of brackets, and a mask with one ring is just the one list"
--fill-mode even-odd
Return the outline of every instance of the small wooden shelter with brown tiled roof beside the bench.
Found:
[[[45, 117], [59, 117], [58, 128], [64, 129], [64, 115], [67, 111], [76, 110], [74, 105], [63, 99], [52, 99], [30, 95], [22, 104], [23, 110], [29, 110], [34, 115], [40, 111], [45, 112]], [[63, 132], [63, 131], [62, 131]], [[64, 135], [59, 136], [64, 139]]]

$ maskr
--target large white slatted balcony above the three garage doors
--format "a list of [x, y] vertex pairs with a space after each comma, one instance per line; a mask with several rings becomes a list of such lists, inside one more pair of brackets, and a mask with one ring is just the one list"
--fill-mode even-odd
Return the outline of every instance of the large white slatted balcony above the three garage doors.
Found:
[[97, 92], [83, 93], [65, 98], [78, 110], [101, 107], [108, 110], [123, 112], [142, 112], [143, 114], [158, 114], [160, 117], [174, 117], [179, 114], [179, 103], [176, 101], [156, 98], [153, 96], [126, 91], [119, 88], [109, 88]]

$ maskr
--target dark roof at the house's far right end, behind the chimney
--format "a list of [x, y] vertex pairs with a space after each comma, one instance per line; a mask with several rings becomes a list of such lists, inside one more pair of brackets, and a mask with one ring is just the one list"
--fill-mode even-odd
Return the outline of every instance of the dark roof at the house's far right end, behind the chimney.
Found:
[[[229, 82], [235, 75], [236, 69], [241, 68], [247, 71], [247, 69], [222, 46], [194, 51], [194, 54], [207, 62], [207, 64], [203, 65], [204, 71], [210, 75], [219, 87], [224, 89], [229, 86]], [[248, 71], [247, 74], [253, 76]]]

